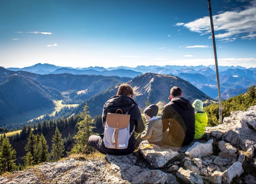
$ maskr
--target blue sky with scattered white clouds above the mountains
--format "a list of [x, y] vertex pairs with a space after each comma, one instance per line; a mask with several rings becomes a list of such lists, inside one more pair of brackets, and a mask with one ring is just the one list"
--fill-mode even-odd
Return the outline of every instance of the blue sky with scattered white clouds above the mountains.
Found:
[[[212, 0], [220, 65], [256, 67], [256, 1]], [[214, 64], [207, 0], [0, 1], [0, 66]]]

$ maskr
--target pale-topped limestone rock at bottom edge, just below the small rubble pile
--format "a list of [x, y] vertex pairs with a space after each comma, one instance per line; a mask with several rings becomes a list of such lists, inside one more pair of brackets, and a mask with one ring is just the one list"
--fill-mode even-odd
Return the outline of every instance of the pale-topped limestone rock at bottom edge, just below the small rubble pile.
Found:
[[203, 183], [203, 179], [200, 177], [200, 175], [183, 168], [179, 168], [176, 176], [184, 183]]

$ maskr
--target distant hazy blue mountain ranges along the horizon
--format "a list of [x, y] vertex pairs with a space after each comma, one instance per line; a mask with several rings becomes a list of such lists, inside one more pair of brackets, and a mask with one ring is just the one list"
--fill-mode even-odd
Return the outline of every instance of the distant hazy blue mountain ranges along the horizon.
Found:
[[[7, 68], [13, 71], [27, 71], [37, 74], [87, 74], [87, 75], [102, 75], [102, 76], [119, 76], [130, 77], [141, 75], [143, 73], [151, 72], [156, 74], [168, 74], [178, 76], [184, 80], [189, 81], [195, 85], [198, 89], [203, 91], [208, 96], [217, 99], [217, 81], [215, 65], [209, 66], [137, 66], [127, 67], [88, 67], [88, 68], [72, 68], [72, 67], [60, 67], [51, 64], [38, 63], [34, 66], [25, 68]], [[218, 66], [220, 74], [220, 86], [222, 99], [227, 97], [233, 97], [240, 93], [245, 93], [250, 85], [256, 83], [256, 68], [245, 68], [242, 66]]]

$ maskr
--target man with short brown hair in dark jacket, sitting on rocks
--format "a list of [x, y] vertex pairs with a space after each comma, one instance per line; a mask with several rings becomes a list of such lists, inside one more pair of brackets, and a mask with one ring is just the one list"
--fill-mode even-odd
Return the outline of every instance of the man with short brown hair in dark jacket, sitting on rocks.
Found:
[[[195, 135], [195, 111], [189, 100], [182, 97], [182, 90], [173, 87], [170, 102], [162, 111], [163, 142], [170, 146], [189, 145]], [[166, 131], [167, 128], [169, 131]]]

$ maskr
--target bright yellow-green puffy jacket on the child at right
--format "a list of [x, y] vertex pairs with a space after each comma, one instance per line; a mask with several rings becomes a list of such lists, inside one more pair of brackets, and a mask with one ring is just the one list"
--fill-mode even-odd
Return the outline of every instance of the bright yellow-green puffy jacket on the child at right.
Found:
[[195, 112], [195, 139], [201, 139], [204, 136], [207, 123], [206, 112]]

